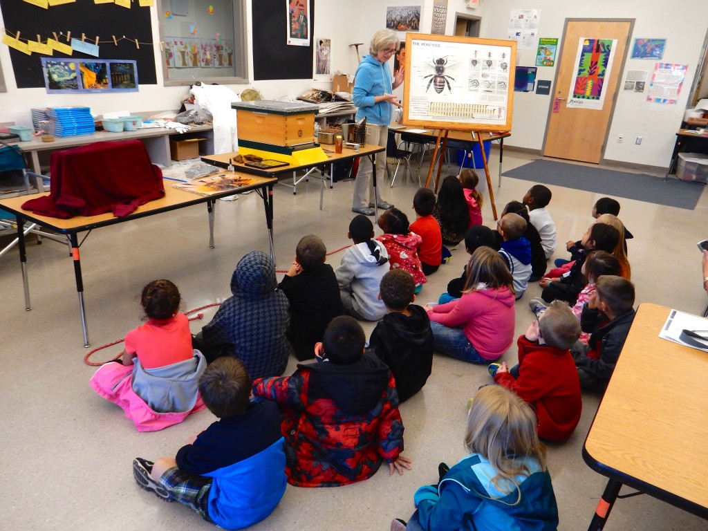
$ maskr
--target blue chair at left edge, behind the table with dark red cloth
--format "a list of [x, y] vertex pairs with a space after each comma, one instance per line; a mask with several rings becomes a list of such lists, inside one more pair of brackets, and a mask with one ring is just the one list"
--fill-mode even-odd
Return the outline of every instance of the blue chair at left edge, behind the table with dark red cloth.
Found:
[[[25, 193], [29, 195], [32, 193], [32, 188], [30, 187], [30, 177], [35, 180], [38, 190], [42, 189], [40, 183], [42, 183], [42, 178], [44, 176], [28, 171], [25, 167], [25, 157], [22, 150], [18, 146], [8, 145], [4, 142], [0, 142], [2, 146], [0, 147], [0, 179], [4, 181], [5, 185], [10, 185], [14, 188], [19, 188], [22, 185], [25, 188]], [[17, 226], [16, 219], [13, 215], [5, 210], [0, 210], [0, 227], [4, 229], [15, 229]], [[46, 238], [63, 242], [69, 245], [69, 239], [66, 236], [57, 236], [56, 234], [50, 234], [48, 232], [42, 232], [37, 229], [36, 223], [28, 223], [23, 227], [23, 232], [25, 236], [30, 232], [37, 235], [37, 243], [42, 243], [42, 236]], [[3, 249], [0, 249], [0, 256], [4, 256], [13, 246], [16, 246], [18, 239], [13, 239], [9, 244], [7, 244]], [[69, 245], [69, 252], [71, 252], [71, 246]]]

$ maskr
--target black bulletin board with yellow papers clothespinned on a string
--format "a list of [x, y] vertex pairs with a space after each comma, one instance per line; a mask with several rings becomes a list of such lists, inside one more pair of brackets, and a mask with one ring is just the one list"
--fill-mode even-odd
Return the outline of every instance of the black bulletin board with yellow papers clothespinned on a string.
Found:
[[[46, 43], [47, 38], [54, 38], [54, 32], [57, 35], [71, 32], [72, 38], [79, 39], [84, 33], [86, 42], [95, 44], [98, 36], [98, 59], [133, 59], [137, 62], [140, 84], [157, 83], [150, 8], [140, 7], [137, 1], [132, 2], [130, 9], [115, 4], [94, 4], [93, 0], [76, 0], [71, 4], [44, 9], [21, 0], [0, 0], [0, 8], [6, 33], [11, 37], [19, 31], [20, 40], [25, 42], [27, 39], [36, 40], [39, 34], [42, 42]], [[119, 40], [115, 45], [113, 35], [117, 40], [125, 35], [133, 42]], [[141, 43], [139, 48], [135, 45], [135, 39]], [[69, 44], [66, 37], [60, 37], [59, 42]], [[18, 89], [45, 86], [41, 58], [50, 56], [37, 53], [26, 55], [13, 48], [9, 50]], [[55, 50], [52, 57], [62, 59], [69, 56]], [[92, 56], [74, 52], [71, 57], [89, 59]]]

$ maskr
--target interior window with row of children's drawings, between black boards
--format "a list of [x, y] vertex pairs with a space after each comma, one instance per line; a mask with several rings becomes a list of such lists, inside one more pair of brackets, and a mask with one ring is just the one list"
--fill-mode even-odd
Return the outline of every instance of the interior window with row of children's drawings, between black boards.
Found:
[[246, 0], [159, 0], [164, 84], [247, 84]]

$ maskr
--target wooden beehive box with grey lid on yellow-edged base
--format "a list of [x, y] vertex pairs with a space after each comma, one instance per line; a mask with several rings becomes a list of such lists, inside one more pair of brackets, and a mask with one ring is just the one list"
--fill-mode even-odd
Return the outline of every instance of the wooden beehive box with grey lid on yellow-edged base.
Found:
[[317, 106], [284, 101], [239, 101], [236, 127], [239, 140], [276, 146], [297, 146], [314, 142]]

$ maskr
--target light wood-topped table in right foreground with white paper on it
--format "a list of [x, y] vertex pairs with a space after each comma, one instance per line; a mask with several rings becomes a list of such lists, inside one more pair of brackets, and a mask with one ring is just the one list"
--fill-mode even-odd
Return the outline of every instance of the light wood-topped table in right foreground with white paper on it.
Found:
[[589, 530], [622, 485], [708, 518], [708, 353], [658, 337], [670, 311], [639, 307], [583, 445], [609, 478]]

